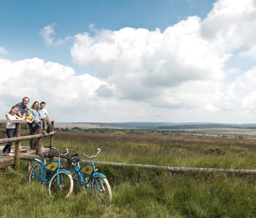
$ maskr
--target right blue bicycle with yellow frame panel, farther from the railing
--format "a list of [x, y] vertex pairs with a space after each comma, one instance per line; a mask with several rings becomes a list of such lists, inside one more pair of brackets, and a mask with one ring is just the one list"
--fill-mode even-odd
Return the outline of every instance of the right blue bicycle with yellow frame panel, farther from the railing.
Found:
[[[96, 172], [98, 169], [95, 168], [93, 163], [93, 158], [95, 158], [99, 152], [100, 148], [97, 149], [95, 156], [87, 156], [85, 154], [76, 153], [72, 155], [70, 161], [72, 162], [72, 177], [74, 180], [75, 188], [80, 187], [85, 192], [85, 189], [91, 185], [91, 189], [98, 199], [99, 203], [102, 205], [109, 205], [112, 199], [112, 193], [110, 185], [107, 178], [102, 173]], [[85, 163], [80, 167], [79, 162], [82, 160], [81, 157], [85, 156], [91, 160], [91, 163]]]

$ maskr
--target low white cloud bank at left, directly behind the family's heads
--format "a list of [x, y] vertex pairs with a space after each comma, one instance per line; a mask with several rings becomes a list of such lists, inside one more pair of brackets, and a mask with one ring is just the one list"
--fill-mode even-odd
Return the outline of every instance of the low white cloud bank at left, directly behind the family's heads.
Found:
[[[33, 58], [22, 61], [0, 59], [0, 99], [9, 99], [1, 110], [29, 96], [31, 101], [45, 101], [56, 111], [62, 108], [84, 108], [94, 101], [96, 90], [105, 82], [54, 62]], [[13, 100], [10, 103], [10, 99]], [[17, 102], [16, 102], [17, 101]], [[58, 116], [56, 116], [58, 117]]]

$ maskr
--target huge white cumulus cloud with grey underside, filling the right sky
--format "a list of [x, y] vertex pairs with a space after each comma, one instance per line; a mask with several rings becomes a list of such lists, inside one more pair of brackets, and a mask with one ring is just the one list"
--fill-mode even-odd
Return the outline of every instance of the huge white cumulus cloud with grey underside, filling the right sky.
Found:
[[191, 16], [163, 32], [126, 27], [77, 34], [70, 53], [77, 64], [94, 64], [121, 99], [208, 112], [252, 109], [248, 103], [241, 108], [238, 101], [252, 98], [225, 78], [238, 72], [226, 68], [237, 50], [255, 58], [255, 25], [256, 1], [219, 0], [204, 20]]

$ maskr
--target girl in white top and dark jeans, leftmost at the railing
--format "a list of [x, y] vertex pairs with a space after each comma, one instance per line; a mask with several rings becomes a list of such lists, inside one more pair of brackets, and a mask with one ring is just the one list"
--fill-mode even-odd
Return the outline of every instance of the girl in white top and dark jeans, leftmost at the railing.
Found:
[[[11, 110], [9, 113], [7, 113], [5, 115], [6, 117], [6, 120], [8, 121], [11, 121], [11, 120], [22, 120], [21, 117], [18, 117], [16, 115], [17, 111], [18, 111], [18, 107], [17, 106], [12, 106]], [[29, 122], [29, 120], [26, 120], [27, 122]], [[7, 122], [6, 123], [6, 135], [7, 135], [7, 138], [13, 138], [15, 137], [15, 133], [16, 133], [16, 123], [12, 123], [12, 122]], [[11, 154], [11, 144], [12, 142], [8, 142], [2, 153], [4, 153], [6, 156], [14, 156], [13, 154]]]

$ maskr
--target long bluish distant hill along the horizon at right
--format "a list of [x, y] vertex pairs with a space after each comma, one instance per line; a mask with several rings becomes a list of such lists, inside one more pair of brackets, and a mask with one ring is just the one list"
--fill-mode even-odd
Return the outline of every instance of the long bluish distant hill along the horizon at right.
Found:
[[212, 122], [72, 122], [72, 124], [98, 125], [102, 128], [138, 128], [138, 129], [181, 129], [181, 128], [256, 128], [256, 124], [228, 124]]

